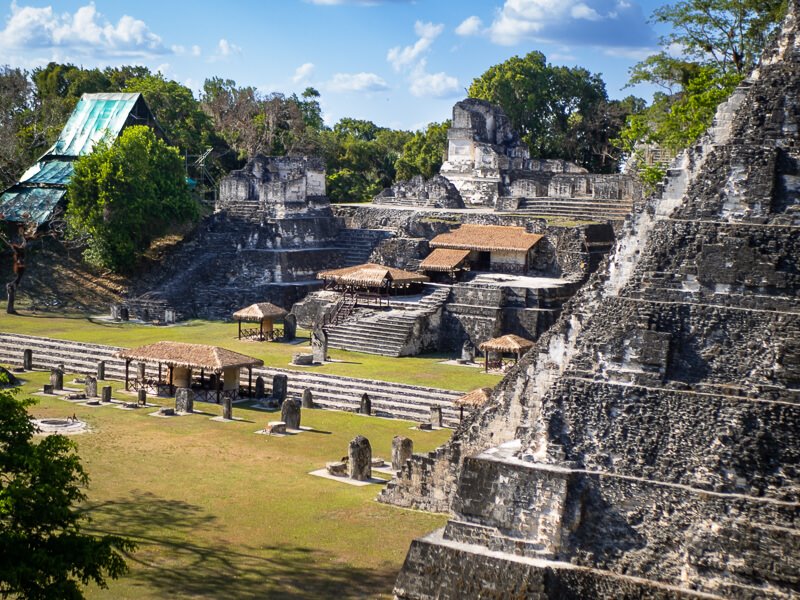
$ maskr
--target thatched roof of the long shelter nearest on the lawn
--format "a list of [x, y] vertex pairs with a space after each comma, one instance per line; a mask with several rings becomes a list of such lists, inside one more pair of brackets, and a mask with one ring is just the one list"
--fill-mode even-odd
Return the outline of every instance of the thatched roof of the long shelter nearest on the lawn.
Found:
[[183, 342], [156, 342], [138, 348], [121, 350], [118, 358], [141, 362], [160, 362], [173, 367], [206, 369], [219, 372], [233, 367], [260, 367], [264, 361], [233, 350], [205, 344]]

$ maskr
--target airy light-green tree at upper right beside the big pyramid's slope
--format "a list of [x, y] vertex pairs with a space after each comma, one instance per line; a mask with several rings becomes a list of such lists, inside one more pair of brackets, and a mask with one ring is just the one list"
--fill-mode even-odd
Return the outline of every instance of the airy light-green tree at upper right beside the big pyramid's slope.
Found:
[[[651, 83], [665, 91], [632, 115], [616, 140], [645, 183], [663, 169], [646, 165], [640, 149], [655, 144], [678, 152], [708, 129], [717, 106], [755, 67], [772, 28], [786, 10], [785, 0], [682, 0], [656, 9], [652, 20], [668, 24], [665, 50], [631, 69], [629, 84]], [[672, 56], [670, 48], [680, 48]]]

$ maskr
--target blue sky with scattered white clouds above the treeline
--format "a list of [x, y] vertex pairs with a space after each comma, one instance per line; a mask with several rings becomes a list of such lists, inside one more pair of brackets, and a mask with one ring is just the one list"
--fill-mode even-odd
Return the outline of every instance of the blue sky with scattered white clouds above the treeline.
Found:
[[540, 50], [601, 73], [612, 98], [657, 48], [660, 0], [15, 0], [0, 6], [0, 64], [144, 64], [197, 91], [207, 77], [322, 94], [341, 117], [417, 129], [449, 118], [473, 78]]

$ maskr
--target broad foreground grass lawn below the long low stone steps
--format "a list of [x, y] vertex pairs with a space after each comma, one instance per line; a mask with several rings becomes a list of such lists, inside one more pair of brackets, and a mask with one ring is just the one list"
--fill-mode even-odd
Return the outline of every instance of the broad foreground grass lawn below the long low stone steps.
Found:
[[[55, 330], [37, 333], [72, 333], [68, 320], [52, 322]], [[7, 323], [3, 317], [4, 329]], [[201, 326], [156, 331], [194, 327]], [[111, 331], [102, 341], [118, 343]], [[148, 341], [145, 331], [130, 328], [132, 343]], [[24, 377], [29, 394], [49, 375]], [[65, 377], [67, 387], [71, 380]], [[119, 383], [109, 383], [116, 393]], [[195, 408], [209, 414], [157, 418], [148, 415], [156, 409], [90, 408], [53, 397], [32, 407], [37, 417], [75, 413], [91, 425], [91, 433], [72, 438], [91, 477], [88, 529], [139, 544], [128, 559], [131, 573], [108, 590], [89, 588], [89, 598], [391, 597], [411, 540], [445, 523], [443, 515], [375, 502], [377, 485], [307, 473], [346, 455], [358, 434], [369, 438], [373, 456], [388, 459], [394, 435], [413, 438], [415, 451], [424, 452], [449, 431], [304, 409], [302, 424], [314, 431], [281, 438], [254, 433], [276, 419], [272, 413], [236, 405], [234, 416], [245, 420], [220, 423], [209, 419], [220, 414], [216, 405]]]

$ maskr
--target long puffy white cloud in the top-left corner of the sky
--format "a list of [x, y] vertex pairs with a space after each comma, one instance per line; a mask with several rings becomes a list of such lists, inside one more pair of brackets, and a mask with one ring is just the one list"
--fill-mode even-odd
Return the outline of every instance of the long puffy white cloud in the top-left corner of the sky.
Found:
[[124, 15], [116, 23], [97, 11], [94, 4], [74, 13], [56, 14], [52, 6], [37, 8], [11, 4], [11, 16], [0, 30], [0, 51], [39, 60], [49, 56], [143, 58], [168, 54], [161, 38], [147, 24]]

